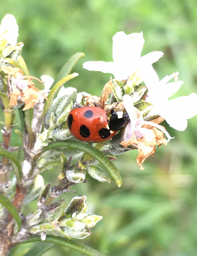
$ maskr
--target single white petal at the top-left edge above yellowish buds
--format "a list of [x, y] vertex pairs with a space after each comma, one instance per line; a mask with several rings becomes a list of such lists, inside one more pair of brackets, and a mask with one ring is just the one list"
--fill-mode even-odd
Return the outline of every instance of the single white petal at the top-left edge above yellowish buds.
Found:
[[18, 25], [12, 14], [7, 14], [1, 22], [0, 39], [5, 39], [10, 45], [16, 45], [18, 38]]

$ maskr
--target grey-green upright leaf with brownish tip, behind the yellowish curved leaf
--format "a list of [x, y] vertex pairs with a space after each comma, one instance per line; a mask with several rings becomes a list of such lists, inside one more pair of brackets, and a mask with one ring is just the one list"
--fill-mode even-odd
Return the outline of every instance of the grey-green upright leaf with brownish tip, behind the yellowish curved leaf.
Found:
[[85, 54], [83, 52], [77, 52], [75, 53], [69, 60], [68, 62], [60, 69], [55, 81], [53, 82], [53, 84], [51, 85], [51, 88], [52, 89], [55, 84], [57, 82], [59, 82], [62, 78], [64, 78], [65, 76], [68, 76], [72, 70], [72, 68], [75, 66], [75, 64], [77, 63], [77, 61], [84, 57]]

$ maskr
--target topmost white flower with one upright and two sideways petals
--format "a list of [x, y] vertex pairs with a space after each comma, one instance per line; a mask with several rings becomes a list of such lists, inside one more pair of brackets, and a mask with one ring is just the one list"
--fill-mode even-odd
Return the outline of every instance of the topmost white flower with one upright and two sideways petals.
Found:
[[83, 68], [114, 74], [115, 79], [124, 80], [137, 70], [145, 68], [163, 56], [163, 52], [154, 51], [141, 56], [144, 45], [143, 33], [126, 35], [123, 31], [113, 36], [113, 62], [88, 61]]

